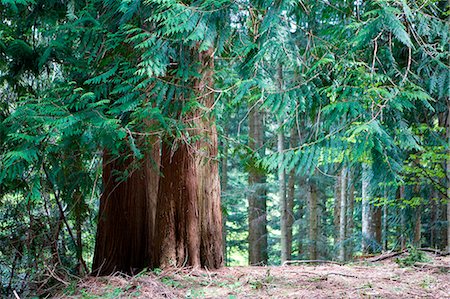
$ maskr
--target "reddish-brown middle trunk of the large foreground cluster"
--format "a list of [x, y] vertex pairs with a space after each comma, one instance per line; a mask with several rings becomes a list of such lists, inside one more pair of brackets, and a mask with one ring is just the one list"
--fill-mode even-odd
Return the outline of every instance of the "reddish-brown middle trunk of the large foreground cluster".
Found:
[[162, 147], [156, 217], [156, 265], [161, 268], [200, 266], [198, 171], [189, 145]]

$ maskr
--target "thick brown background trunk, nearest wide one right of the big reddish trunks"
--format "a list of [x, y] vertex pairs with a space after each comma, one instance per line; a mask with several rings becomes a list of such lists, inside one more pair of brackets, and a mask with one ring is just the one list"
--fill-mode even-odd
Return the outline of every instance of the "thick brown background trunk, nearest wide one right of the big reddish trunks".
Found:
[[[264, 127], [259, 107], [249, 113], [249, 147], [261, 150], [264, 143]], [[267, 207], [266, 177], [259, 169], [250, 169], [248, 175], [248, 254], [250, 265], [266, 265], [267, 252]]]

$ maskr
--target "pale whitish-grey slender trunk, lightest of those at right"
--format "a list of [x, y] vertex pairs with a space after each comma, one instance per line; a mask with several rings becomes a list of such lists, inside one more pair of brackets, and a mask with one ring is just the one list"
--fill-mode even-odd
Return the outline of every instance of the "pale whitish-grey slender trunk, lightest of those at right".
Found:
[[362, 197], [362, 214], [361, 214], [361, 226], [362, 226], [362, 251], [363, 253], [370, 253], [371, 252], [371, 242], [372, 242], [372, 235], [371, 235], [371, 211], [370, 211], [370, 195], [369, 195], [369, 165], [366, 163], [362, 164], [362, 191], [361, 191], [361, 197]]

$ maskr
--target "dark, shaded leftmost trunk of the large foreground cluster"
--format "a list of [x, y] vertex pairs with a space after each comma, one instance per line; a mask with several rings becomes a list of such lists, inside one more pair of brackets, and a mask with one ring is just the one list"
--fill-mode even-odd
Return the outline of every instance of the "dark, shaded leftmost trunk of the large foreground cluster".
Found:
[[100, 199], [93, 274], [136, 273], [148, 266], [151, 243], [148, 211], [157, 192], [148, 188], [152, 184], [150, 180], [157, 178], [150, 175], [155, 170], [149, 168], [149, 160], [151, 158], [144, 161], [114, 159], [104, 152], [104, 190]]

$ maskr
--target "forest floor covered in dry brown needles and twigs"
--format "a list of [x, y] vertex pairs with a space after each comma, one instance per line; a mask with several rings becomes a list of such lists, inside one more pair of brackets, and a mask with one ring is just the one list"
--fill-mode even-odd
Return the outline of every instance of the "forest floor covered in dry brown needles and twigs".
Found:
[[407, 267], [395, 261], [404, 257], [395, 256], [347, 265], [173, 269], [135, 277], [89, 277], [61, 298], [450, 298], [450, 256], [427, 256], [426, 262]]

